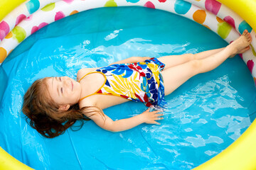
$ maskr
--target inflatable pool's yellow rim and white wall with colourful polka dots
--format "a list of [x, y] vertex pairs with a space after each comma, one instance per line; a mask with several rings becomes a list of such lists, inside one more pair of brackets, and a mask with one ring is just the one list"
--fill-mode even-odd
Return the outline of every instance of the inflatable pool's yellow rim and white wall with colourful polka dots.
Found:
[[[58, 19], [91, 8], [107, 6], [144, 6], [190, 18], [220, 35], [228, 43], [247, 29], [252, 35], [250, 50], [242, 55], [256, 80], [256, 1], [253, 0], [29, 0], [3, 1], [0, 8], [0, 63], [14, 48], [36, 30]], [[223, 3], [223, 4], [221, 4]], [[15, 8], [18, 6], [17, 8]], [[11, 11], [11, 8], [15, 8]], [[233, 11], [232, 11], [233, 10]], [[11, 11], [11, 12], [10, 12]], [[235, 12], [234, 12], [235, 11]], [[6, 15], [8, 13], [8, 15]], [[32, 17], [33, 14], [33, 17]], [[207, 16], [207, 17], [206, 17]], [[242, 18], [240, 18], [242, 16]], [[7, 58], [8, 60], [8, 58]], [[255, 169], [256, 121], [223, 152], [196, 169]], [[0, 169], [31, 169], [0, 147]]]

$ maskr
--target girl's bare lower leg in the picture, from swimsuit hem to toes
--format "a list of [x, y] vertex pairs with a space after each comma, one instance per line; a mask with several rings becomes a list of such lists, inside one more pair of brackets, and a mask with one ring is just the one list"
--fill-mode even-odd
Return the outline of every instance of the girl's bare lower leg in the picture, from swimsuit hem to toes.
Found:
[[223, 50], [220, 50], [220, 52], [201, 60], [191, 60], [190, 62], [163, 70], [162, 75], [164, 78], [165, 95], [171, 94], [178, 86], [181, 86], [181, 84], [196, 74], [215, 69], [231, 55], [245, 52], [249, 49], [248, 45], [250, 45], [251, 41], [250, 33], [245, 30], [238, 40], [235, 40], [230, 45], [223, 48]]

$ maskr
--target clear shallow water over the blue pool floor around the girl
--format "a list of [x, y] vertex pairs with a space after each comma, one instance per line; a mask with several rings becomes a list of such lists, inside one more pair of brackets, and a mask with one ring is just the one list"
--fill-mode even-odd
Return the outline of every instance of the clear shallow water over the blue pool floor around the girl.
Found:
[[[21, 43], [0, 66], [0, 145], [33, 169], [192, 169], [220, 153], [255, 118], [255, 86], [240, 57], [198, 74], [166, 101], [161, 125], [81, 130], [46, 139], [25, 121], [22, 98], [36, 79], [103, 67], [132, 56], [161, 57], [227, 45], [193, 21], [150, 8], [99, 8], [57, 21]], [[146, 110], [132, 101], [104, 110], [113, 120]], [[79, 125], [79, 123], [77, 123]], [[96, 167], [96, 168], [95, 168]]]

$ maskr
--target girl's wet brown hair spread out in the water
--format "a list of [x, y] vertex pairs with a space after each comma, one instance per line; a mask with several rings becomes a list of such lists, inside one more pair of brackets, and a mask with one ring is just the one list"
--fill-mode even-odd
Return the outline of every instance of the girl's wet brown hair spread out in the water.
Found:
[[[48, 138], [62, 135], [77, 120], [90, 120], [85, 113], [94, 115], [102, 110], [96, 106], [79, 108], [78, 103], [70, 106], [68, 111], [60, 111], [58, 104], [50, 98], [46, 77], [38, 79], [29, 87], [23, 97], [22, 111], [26, 115], [26, 122], [41, 135]], [[81, 121], [80, 128], [84, 121]]]

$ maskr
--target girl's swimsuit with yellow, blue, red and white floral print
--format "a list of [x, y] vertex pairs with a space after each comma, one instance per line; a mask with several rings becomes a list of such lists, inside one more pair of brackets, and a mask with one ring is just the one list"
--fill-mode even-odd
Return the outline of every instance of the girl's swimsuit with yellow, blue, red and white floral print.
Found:
[[[88, 74], [98, 72], [105, 77], [105, 83], [94, 94], [114, 95], [131, 101], [144, 102], [148, 107], [165, 108], [164, 81], [160, 72], [164, 67], [164, 63], [156, 58], [151, 58], [144, 62], [112, 64]], [[86, 97], [88, 96], [84, 98]]]

